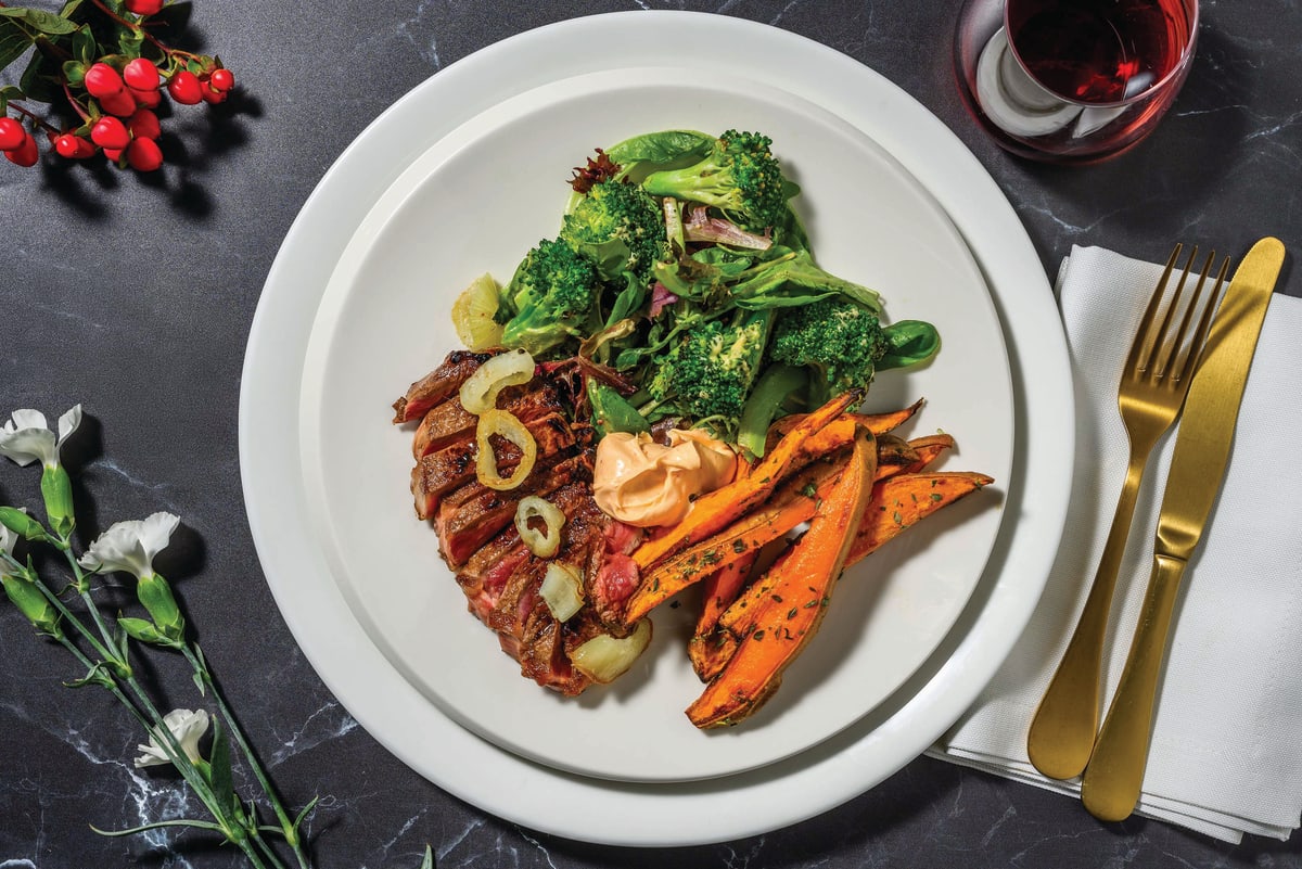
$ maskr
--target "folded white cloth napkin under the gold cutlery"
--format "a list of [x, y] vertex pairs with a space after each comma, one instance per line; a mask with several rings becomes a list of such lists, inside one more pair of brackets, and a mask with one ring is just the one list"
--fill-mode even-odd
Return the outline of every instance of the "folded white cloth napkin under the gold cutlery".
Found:
[[[928, 752], [1079, 794], [1026, 757], [1125, 479], [1117, 382], [1161, 267], [1074, 247], [1057, 293], [1075, 379], [1077, 459], [1044, 595], [1003, 669]], [[1138, 814], [1226, 842], [1288, 839], [1302, 820], [1302, 299], [1276, 293], [1258, 341], [1224, 487], [1185, 572]], [[1034, 411], [1034, 408], [1032, 408]], [[1113, 598], [1104, 710], [1148, 582], [1174, 433], [1144, 475]], [[1032, 494], [1034, 497], [1034, 494]], [[1083, 809], [1082, 809], [1083, 810]]]

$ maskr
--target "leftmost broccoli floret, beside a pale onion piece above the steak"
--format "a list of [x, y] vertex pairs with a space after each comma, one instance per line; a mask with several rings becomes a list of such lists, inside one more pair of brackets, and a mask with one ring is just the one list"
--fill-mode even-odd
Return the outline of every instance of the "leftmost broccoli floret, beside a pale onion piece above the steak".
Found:
[[525, 255], [501, 295], [501, 343], [539, 356], [582, 338], [600, 294], [591, 260], [560, 239], [543, 239]]

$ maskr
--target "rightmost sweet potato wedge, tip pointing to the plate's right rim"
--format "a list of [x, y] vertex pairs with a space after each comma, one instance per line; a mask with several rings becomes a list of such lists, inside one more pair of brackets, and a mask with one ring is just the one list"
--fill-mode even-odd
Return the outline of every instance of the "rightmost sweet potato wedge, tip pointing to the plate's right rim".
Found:
[[993, 477], [973, 471], [944, 471], [904, 474], [878, 483], [872, 487], [846, 565], [858, 562], [905, 528], [993, 481]]

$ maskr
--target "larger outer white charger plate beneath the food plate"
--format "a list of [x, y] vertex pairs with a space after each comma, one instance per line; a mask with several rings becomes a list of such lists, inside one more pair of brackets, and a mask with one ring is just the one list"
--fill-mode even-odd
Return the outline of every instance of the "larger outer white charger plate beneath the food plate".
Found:
[[[344, 591], [311, 579], [332, 574], [299, 472], [293, 415], [339, 251], [397, 177], [458, 126], [533, 86], [630, 65], [786, 90], [893, 155], [945, 209], [983, 272], [1014, 397], [1017, 450], [1004, 507], [1013, 520], [1000, 527], [987, 570], [934, 653], [868, 714], [812, 748], [682, 783], [621, 783], [531, 762], [462, 727], [395, 669]], [[305, 654], [352, 714], [471, 804], [546, 833], [616, 844], [691, 844], [784, 826], [872, 787], [924, 751], [975, 699], [1030, 617], [1061, 533], [1073, 434], [1065, 343], [1043, 269], [958, 139], [852, 59], [777, 29], [699, 13], [618, 13], [526, 33], [395, 104], [341, 155], [286, 235], [250, 333], [241, 395], [241, 470], [259, 557]], [[720, 800], [728, 812], [717, 810]]]

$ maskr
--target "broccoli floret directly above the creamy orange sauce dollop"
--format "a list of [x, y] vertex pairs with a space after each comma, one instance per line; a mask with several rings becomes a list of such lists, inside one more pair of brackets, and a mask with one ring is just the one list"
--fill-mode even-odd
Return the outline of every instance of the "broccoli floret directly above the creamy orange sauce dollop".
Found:
[[677, 412], [733, 440], [771, 323], [772, 312], [756, 311], [733, 324], [707, 320], [685, 330], [646, 385], [658, 415]]

